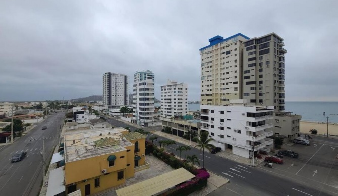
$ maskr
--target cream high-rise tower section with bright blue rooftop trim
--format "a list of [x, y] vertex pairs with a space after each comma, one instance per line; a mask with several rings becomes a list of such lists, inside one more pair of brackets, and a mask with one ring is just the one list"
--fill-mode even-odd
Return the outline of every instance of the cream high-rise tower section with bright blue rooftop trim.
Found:
[[242, 99], [242, 51], [248, 39], [241, 33], [226, 39], [215, 36], [200, 49], [201, 105], [224, 105], [230, 99]]

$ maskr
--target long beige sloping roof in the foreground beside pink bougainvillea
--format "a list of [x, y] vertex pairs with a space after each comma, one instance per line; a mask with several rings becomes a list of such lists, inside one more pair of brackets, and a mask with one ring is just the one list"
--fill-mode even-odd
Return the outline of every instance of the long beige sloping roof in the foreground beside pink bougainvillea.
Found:
[[176, 169], [171, 172], [144, 180], [137, 184], [133, 184], [121, 189], [116, 190], [118, 196], [146, 196], [156, 195], [167, 189], [175, 187], [176, 185], [194, 178], [195, 175], [190, 173], [184, 168]]

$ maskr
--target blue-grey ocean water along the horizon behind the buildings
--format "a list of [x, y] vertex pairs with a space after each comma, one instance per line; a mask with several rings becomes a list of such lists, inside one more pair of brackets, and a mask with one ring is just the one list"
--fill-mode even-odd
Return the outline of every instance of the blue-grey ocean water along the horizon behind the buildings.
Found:
[[[199, 104], [188, 104], [188, 110], [199, 110]], [[326, 122], [328, 117], [328, 122], [338, 123], [338, 102], [285, 102], [285, 112], [302, 115], [303, 121]]]

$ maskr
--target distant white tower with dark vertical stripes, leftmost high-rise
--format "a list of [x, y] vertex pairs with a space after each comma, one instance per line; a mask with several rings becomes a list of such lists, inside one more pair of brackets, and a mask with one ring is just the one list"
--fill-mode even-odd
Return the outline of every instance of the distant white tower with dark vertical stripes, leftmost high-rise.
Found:
[[103, 104], [125, 106], [129, 102], [129, 76], [118, 73], [103, 74]]

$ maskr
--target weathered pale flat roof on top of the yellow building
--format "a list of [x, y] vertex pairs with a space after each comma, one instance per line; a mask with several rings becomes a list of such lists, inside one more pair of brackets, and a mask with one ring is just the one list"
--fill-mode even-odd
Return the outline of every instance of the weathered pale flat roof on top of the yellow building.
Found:
[[113, 152], [127, 150], [125, 146], [134, 144], [123, 141], [123, 128], [66, 132], [64, 134], [65, 161], [76, 161]]

